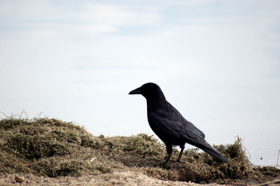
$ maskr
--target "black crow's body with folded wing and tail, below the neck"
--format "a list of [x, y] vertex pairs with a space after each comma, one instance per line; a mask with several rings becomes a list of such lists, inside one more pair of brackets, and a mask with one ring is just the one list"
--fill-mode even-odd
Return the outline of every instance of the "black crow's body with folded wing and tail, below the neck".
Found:
[[188, 122], [176, 108], [167, 101], [156, 109], [148, 110], [148, 122], [155, 132], [165, 143], [180, 145], [190, 143], [201, 148], [221, 162], [227, 159], [204, 140], [205, 135], [195, 125]]

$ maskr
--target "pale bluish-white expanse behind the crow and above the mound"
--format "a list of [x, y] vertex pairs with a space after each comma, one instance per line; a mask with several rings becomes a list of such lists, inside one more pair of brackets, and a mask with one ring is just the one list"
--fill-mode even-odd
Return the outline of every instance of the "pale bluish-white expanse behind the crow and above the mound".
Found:
[[153, 82], [209, 143], [240, 136], [253, 163], [276, 164], [279, 10], [278, 0], [1, 0], [0, 117], [152, 135], [144, 97], [128, 92]]

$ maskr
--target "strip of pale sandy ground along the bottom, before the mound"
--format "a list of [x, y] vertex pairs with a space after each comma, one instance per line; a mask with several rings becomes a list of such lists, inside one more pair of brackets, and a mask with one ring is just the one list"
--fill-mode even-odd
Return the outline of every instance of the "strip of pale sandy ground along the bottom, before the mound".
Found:
[[[134, 171], [118, 171], [80, 177], [48, 178], [32, 174], [17, 174], [22, 183], [17, 183], [14, 174], [1, 176], [0, 185], [200, 185], [196, 183], [158, 180]], [[216, 184], [211, 184], [216, 185]]]

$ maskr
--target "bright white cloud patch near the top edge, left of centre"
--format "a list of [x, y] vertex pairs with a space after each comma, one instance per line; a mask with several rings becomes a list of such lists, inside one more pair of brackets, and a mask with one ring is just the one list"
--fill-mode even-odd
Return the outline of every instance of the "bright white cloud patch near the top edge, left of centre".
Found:
[[116, 6], [111, 4], [85, 4], [83, 13], [76, 13], [67, 17], [68, 20], [76, 20], [84, 24], [85, 31], [87, 25], [90, 27], [102, 27], [100, 31], [121, 31], [123, 27], [146, 27], [147, 25], [160, 22], [158, 13], [134, 10], [130, 6]]

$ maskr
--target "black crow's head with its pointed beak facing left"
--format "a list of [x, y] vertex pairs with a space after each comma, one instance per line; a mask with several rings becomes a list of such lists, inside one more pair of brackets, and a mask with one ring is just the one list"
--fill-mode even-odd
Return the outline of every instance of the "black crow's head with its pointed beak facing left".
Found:
[[132, 90], [129, 94], [141, 94], [147, 100], [165, 99], [165, 95], [160, 90], [160, 87], [155, 83], [146, 83], [136, 90]]

